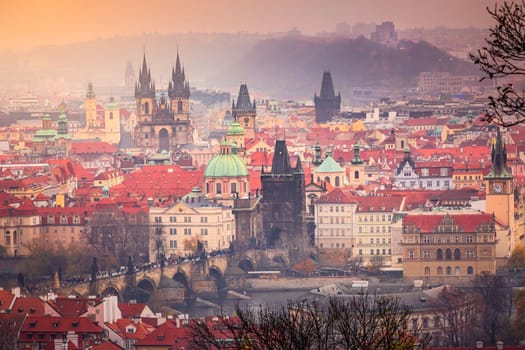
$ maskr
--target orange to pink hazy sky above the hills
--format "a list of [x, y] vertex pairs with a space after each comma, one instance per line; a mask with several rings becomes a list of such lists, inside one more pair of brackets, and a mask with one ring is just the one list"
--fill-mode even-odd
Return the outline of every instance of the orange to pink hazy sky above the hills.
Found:
[[[0, 51], [141, 33], [334, 31], [338, 22], [488, 28], [495, 0], [0, 0]], [[501, 1], [499, 1], [501, 2]]]

